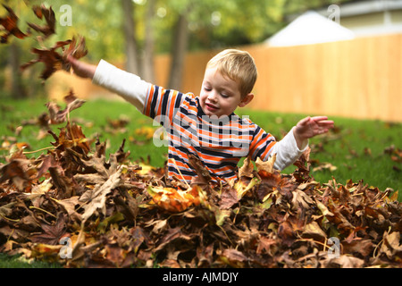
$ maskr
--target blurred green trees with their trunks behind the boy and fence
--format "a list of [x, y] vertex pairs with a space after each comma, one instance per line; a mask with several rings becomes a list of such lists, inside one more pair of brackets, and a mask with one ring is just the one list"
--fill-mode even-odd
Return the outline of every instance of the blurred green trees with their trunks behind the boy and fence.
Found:
[[[64, 13], [64, 0], [2, 1], [19, 16], [19, 26], [27, 29], [27, 21], [40, 22], [30, 8], [33, 4], [52, 6], [56, 14], [56, 33], [49, 45], [75, 35], [87, 39], [89, 54], [85, 59], [97, 63], [103, 58], [124, 63], [127, 71], [144, 80], [153, 81], [154, 55], [172, 55], [169, 84], [166, 88], [180, 89], [183, 61], [188, 51], [218, 49], [260, 43], [287, 24], [289, 14], [353, 0], [74, 0], [71, 22], [59, 21]], [[0, 17], [5, 14], [0, 7]], [[35, 39], [11, 38], [0, 46], [0, 96], [45, 96], [40, 80], [33, 82], [35, 69], [24, 71], [18, 66], [29, 61], [29, 50]], [[34, 77], [35, 78], [35, 77]], [[29, 88], [27, 88], [29, 87]]]

